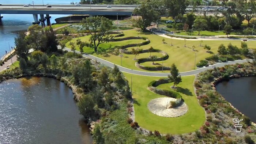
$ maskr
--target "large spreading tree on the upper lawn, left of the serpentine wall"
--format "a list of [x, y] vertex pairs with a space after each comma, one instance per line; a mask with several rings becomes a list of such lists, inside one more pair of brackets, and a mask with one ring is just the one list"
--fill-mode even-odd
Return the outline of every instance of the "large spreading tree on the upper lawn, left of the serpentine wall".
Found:
[[101, 43], [108, 42], [109, 39], [113, 38], [109, 34], [112, 21], [103, 16], [96, 16], [91, 18], [86, 18], [82, 20], [84, 29], [89, 31], [91, 35], [89, 42], [86, 42], [86, 46], [93, 48], [97, 52], [97, 48]]

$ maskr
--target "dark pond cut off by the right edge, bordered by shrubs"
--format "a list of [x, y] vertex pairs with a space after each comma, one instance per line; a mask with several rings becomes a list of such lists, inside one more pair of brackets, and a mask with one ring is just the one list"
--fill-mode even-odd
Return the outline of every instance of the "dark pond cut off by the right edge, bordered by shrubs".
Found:
[[241, 77], [219, 83], [217, 91], [241, 113], [256, 122], [256, 77]]

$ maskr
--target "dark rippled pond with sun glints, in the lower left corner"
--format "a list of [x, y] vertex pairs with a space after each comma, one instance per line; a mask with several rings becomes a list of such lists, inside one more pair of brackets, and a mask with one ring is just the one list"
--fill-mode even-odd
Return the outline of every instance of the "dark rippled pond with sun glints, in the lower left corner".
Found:
[[90, 144], [91, 136], [64, 83], [32, 77], [0, 83], [0, 144]]

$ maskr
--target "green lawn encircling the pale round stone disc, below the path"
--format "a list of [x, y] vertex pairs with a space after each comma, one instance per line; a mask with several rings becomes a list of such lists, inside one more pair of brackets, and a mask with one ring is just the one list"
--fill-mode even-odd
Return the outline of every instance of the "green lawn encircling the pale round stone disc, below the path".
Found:
[[132, 75], [124, 73], [131, 86], [132, 76], [132, 91], [135, 108], [135, 121], [139, 126], [148, 130], [158, 130], [160, 133], [181, 134], [194, 132], [204, 124], [205, 112], [197, 102], [194, 94], [193, 80], [195, 76], [182, 77], [182, 82], [178, 85], [180, 91], [172, 90], [170, 86], [173, 83], [161, 84], [160, 89], [176, 91], [182, 95], [184, 102], [188, 105], [188, 112], [185, 115], [176, 118], [166, 118], [151, 113], [147, 104], [151, 99], [166, 97], [164, 95], [155, 94], [147, 89], [148, 83], [159, 77], [149, 77]]

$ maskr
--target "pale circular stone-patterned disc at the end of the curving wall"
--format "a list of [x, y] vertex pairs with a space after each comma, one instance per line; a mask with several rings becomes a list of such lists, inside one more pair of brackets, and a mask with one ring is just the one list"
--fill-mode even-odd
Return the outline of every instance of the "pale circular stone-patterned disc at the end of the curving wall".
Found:
[[180, 106], [166, 109], [170, 101], [175, 101], [175, 98], [156, 98], [152, 99], [148, 104], [148, 109], [156, 115], [162, 117], [178, 117], [184, 115], [188, 111], [188, 106], [182, 102]]

